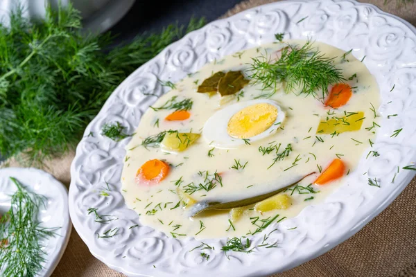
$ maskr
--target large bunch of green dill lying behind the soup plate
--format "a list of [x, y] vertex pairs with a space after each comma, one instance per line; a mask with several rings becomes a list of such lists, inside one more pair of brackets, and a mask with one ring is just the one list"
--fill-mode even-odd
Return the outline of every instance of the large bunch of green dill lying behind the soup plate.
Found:
[[168, 44], [205, 24], [170, 25], [105, 51], [106, 35], [82, 35], [72, 6], [46, 8], [42, 21], [22, 10], [0, 26], [0, 154], [37, 164], [66, 152], [108, 96], [138, 66]]

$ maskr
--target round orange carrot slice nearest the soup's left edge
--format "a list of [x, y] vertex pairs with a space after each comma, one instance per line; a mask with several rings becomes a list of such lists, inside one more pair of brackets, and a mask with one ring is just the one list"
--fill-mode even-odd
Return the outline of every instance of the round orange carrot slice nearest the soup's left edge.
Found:
[[159, 184], [169, 173], [169, 166], [164, 161], [158, 159], [146, 161], [137, 170], [136, 181], [141, 184]]

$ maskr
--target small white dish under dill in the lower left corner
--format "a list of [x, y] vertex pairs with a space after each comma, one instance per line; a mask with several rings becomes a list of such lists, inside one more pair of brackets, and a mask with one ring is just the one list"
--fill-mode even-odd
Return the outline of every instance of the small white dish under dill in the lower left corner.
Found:
[[3, 168], [0, 169], [0, 213], [6, 213], [10, 208], [10, 196], [17, 190], [10, 180], [15, 177], [21, 184], [33, 193], [46, 197], [46, 207], [40, 208], [38, 219], [45, 228], [60, 227], [55, 231], [55, 237], [43, 240], [46, 262], [41, 277], [51, 276], [58, 265], [71, 234], [71, 220], [68, 211], [67, 188], [49, 173], [35, 168]]

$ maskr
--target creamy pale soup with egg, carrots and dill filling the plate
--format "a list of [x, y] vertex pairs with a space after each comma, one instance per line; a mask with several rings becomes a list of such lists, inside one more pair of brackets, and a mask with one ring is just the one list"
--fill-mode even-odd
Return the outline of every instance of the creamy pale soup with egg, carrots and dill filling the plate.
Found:
[[229, 55], [142, 116], [125, 202], [173, 238], [259, 233], [343, 184], [374, 141], [378, 107], [374, 77], [333, 46], [289, 40]]

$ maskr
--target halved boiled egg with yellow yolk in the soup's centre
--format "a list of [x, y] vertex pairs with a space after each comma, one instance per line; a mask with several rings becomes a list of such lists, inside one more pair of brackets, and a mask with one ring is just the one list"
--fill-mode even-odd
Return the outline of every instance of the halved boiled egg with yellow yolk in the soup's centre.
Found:
[[238, 102], [216, 111], [205, 123], [202, 136], [216, 148], [237, 148], [274, 134], [284, 118], [273, 100]]

